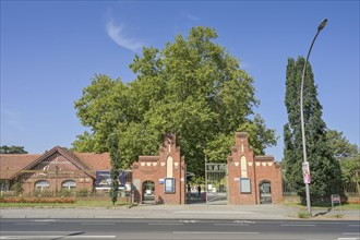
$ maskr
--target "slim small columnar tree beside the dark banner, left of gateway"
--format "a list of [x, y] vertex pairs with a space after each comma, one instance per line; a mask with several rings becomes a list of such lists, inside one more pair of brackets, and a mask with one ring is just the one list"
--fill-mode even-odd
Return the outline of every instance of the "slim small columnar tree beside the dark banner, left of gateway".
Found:
[[110, 197], [112, 205], [118, 201], [119, 193], [119, 168], [120, 168], [120, 151], [119, 151], [119, 137], [117, 133], [111, 133], [108, 140], [108, 147], [111, 158], [111, 190]]

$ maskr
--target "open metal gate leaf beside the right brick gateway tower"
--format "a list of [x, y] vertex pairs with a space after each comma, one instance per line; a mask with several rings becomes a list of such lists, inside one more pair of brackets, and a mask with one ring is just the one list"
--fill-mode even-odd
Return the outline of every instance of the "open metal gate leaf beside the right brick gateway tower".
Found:
[[228, 204], [227, 164], [205, 163], [206, 204]]

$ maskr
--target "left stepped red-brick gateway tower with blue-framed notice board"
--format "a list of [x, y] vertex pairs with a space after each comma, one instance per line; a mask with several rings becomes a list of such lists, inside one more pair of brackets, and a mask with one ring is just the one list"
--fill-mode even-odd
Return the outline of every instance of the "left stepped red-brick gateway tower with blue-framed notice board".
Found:
[[140, 156], [132, 169], [136, 202], [185, 203], [185, 161], [180, 156], [173, 134], [165, 134], [158, 156]]

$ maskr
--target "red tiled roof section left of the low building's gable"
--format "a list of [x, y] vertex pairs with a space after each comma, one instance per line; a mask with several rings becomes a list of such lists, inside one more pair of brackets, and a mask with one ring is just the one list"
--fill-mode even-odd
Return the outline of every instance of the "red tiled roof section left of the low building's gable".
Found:
[[0, 154], [0, 179], [11, 179], [41, 154]]

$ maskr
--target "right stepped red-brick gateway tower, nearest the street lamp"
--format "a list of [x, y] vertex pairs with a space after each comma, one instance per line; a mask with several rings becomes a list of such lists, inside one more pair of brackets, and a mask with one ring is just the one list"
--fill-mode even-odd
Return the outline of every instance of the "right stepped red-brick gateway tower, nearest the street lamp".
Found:
[[228, 163], [229, 204], [279, 203], [283, 201], [280, 165], [273, 156], [253, 156], [245, 132], [236, 133]]

